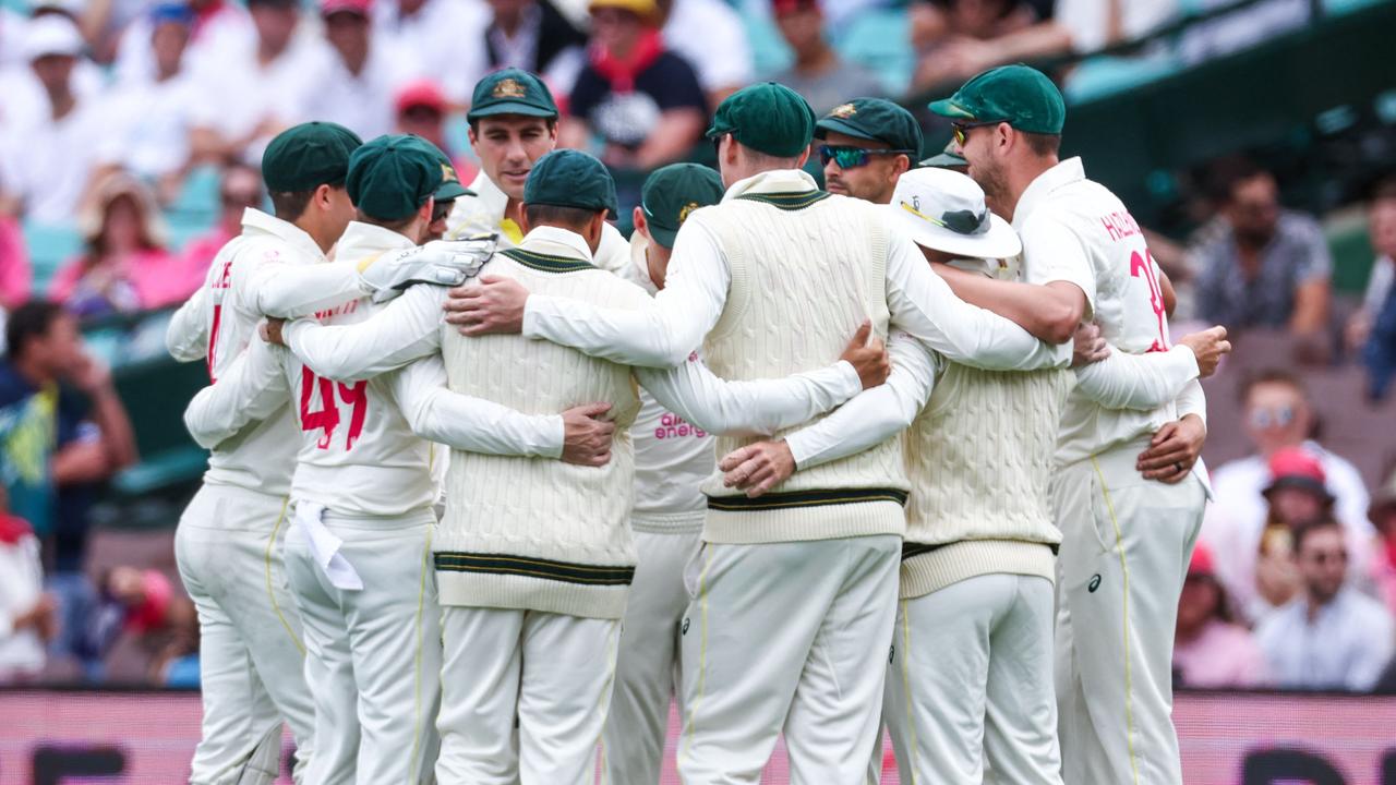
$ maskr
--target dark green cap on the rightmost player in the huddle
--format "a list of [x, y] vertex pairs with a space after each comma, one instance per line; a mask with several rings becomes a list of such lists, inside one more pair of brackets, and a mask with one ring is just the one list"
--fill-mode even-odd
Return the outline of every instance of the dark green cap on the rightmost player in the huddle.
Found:
[[1008, 123], [1029, 134], [1060, 134], [1067, 123], [1061, 91], [1047, 74], [1022, 63], [990, 68], [930, 109], [951, 120]]

